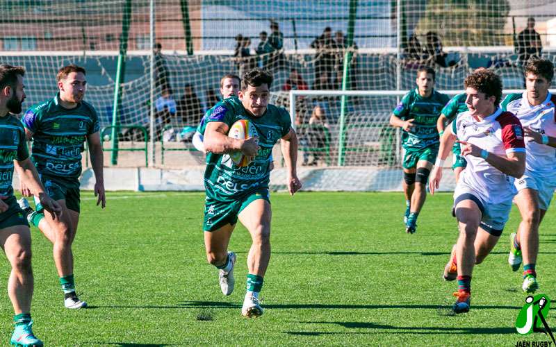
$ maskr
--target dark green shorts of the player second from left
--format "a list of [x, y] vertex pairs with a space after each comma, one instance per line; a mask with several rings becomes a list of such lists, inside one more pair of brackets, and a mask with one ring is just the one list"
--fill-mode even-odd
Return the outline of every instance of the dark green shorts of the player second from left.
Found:
[[[65, 200], [68, 210], [80, 212], [79, 204], [81, 198], [79, 195], [79, 180], [77, 178], [51, 178], [49, 176], [40, 176], [42, 185], [47, 194], [54, 200]], [[35, 205], [37, 212], [42, 212], [43, 208], [35, 197]]]

